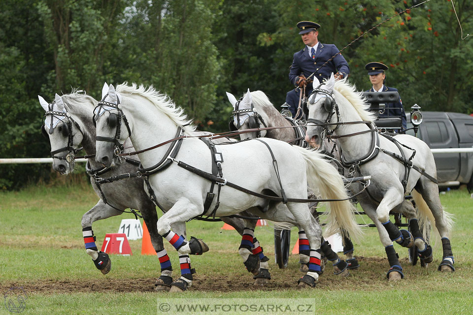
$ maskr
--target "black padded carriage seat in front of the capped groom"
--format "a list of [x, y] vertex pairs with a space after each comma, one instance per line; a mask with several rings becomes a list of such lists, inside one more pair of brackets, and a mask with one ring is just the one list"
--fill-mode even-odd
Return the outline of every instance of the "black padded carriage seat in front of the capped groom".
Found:
[[[378, 116], [374, 124], [378, 128], [385, 128], [388, 131], [401, 130], [403, 119], [401, 116], [381, 116], [384, 113], [386, 103], [395, 103], [399, 101], [398, 92], [363, 92], [366, 101], [370, 103], [371, 111]], [[389, 115], [389, 113], [388, 113]]]

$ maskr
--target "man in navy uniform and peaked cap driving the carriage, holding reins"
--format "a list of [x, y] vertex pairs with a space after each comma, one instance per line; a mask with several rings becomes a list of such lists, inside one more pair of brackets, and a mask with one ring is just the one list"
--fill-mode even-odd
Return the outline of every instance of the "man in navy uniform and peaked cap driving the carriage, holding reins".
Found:
[[[335, 79], [343, 79], [350, 68], [345, 58], [340, 54], [337, 46], [333, 44], [322, 44], [318, 41], [320, 25], [315, 22], [301, 21], [297, 24], [305, 47], [294, 54], [294, 59], [289, 70], [289, 80], [296, 86], [296, 89], [290, 91], [286, 95], [286, 103], [289, 104], [289, 110], [292, 112], [293, 118], [300, 119], [302, 117], [302, 110], [299, 117], [296, 117], [297, 108], [299, 106], [299, 99], [301, 90], [304, 91], [305, 96], [312, 92], [312, 78], [316, 77], [319, 82], [323, 79], [328, 79], [335, 73]], [[335, 56], [330, 62], [322, 66], [329, 59]], [[312, 73], [314, 75], [308, 78]], [[303, 93], [304, 94], [304, 93]], [[304, 97], [304, 95], [302, 95]], [[301, 104], [302, 106], [302, 104]]]

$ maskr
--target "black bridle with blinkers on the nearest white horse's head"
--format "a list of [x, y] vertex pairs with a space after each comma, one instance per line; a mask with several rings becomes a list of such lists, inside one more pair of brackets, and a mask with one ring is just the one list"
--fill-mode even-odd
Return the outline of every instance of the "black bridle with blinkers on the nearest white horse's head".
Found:
[[[127, 126], [128, 136], [130, 136], [132, 134], [132, 132], [130, 130], [130, 125], [128, 124], [127, 117], [123, 113], [123, 110], [120, 106], [120, 99], [117, 97], [117, 104], [113, 104], [113, 103], [105, 101], [105, 98], [107, 96], [108, 96], [108, 94], [105, 95], [103, 97], [103, 99], [99, 102], [99, 104], [94, 108], [94, 114], [92, 116], [92, 121], [93, 121], [94, 125], [96, 126], [96, 124], [97, 124], [96, 122], [99, 119], [99, 113], [101, 112], [101, 110], [103, 109], [104, 111], [109, 112], [108, 118], [107, 118], [107, 125], [110, 127], [110, 129], [116, 128], [115, 137], [110, 138], [110, 137], [96, 136], [96, 141], [113, 142], [113, 144], [115, 145], [115, 149], [113, 150], [113, 154], [116, 157], [119, 157], [119, 154], [124, 149], [123, 144], [121, 144], [119, 142], [122, 119], [125, 122], [125, 126]], [[117, 114], [111, 113], [110, 112], [111, 109], [106, 109], [103, 106], [108, 106], [108, 107], [112, 107], [112, 108], [116, 109]], [[97, 111], [97, 109], [99, 109], [99, 110]], [[96, 111], [97, 111], [97, 113], [96, 113]]]

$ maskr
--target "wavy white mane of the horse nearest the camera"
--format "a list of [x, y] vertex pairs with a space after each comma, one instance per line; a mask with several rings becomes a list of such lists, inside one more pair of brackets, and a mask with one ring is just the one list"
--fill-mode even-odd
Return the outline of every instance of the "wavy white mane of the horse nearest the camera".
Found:
[[[148, 99], [157, 109], [167, 115], [177, 126], [180, 126], [185, 132], [193, 132], [196, 130], [196, 126], [188, 125], [192, 124], [192, 120], [187, 119], [187, 115], [184, 110], [176, 106], [170, 97], [166, 94], [161, 94], [159, 91], [150, 85], [148, 88], [140, 84], [137, 86], [132, 83], [131, 86], [128, 82], [119, 84], [116, 87], [117, 93], [121, 95], [139, 95]], [[187, 125], [187, 126], [186, 126]]]

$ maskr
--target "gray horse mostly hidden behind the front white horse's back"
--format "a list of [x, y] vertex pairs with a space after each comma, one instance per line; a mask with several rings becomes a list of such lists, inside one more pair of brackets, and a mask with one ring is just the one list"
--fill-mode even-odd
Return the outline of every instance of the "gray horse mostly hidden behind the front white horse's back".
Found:
[[[232, 104], [233, 120], [230, 121], [231, 130], [244, 130], [259, 127], [282, 127], [262, 131], [253, 131], [242, 133], [240, 138], [257, 138], [267, 137], [277, 139], [295, 145], [302, 146], [305, 136], [305, 127], [290, 117], [283, 116], [270, 102], [268, 96], [262, 91], [248, 90], [251, 94], [252, 103], [245, 103], [244, 97], [236, 100], [236, 97], [227, 92], [228, 99]], [[244, 95], [243, 95], [244, 96]], [[315, 210], [316, 211], [316, 210]], [[304, 231], [299, 234], [304, 236]], [[330, 244], [322, 239], [321, 249], [329, 261], [334, 266], [334, 273], [341, 276], [348, 275], [347, 269], [356, 269], [359, 267], [358, 260], [353, 257], [353, 244], [351, 240], [345, 236], [343, 238], [343, 253], [346, 255], [346, 262], [338, 257], [338, 254], [332, 250]], [[299, 256], [301, 262], [301, 271], [306, 269], [306, 263], [309, 260], [308, 251], [304, 244], [304, 240], [299, 240]]]

